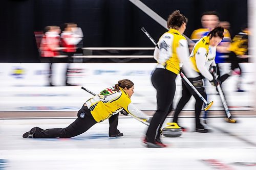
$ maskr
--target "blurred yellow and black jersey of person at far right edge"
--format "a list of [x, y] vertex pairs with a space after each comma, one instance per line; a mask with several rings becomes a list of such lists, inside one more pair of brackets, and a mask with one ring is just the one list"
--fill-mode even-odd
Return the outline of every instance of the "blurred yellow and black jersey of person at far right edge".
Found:
[[243, 31], [234, 36], [228, 50], [238, 56], [248, 55], [248, 32]]

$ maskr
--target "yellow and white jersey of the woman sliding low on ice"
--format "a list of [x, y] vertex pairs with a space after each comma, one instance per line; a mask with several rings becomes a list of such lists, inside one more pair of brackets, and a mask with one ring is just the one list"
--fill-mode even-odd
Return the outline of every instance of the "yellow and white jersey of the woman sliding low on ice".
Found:
[[102, 122], [122, 109], [138, 118], [145, 120], [149, 118], [142, 111], [134, 107], [129, 95], [122, 88], [119, 91], [115, 91], [113, 87], [106, 88], [89, 99], [86, 105], [96, 122]]

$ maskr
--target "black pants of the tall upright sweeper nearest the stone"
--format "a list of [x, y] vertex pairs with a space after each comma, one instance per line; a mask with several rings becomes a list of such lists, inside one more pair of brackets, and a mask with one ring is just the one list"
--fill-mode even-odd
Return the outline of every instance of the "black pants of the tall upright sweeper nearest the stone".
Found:
[[146, 140], [155, 142], [156, 137], [160, 136], [160, 128], [164, 123], [169, 111], [172, 110], [172, 103], [176, 90], [177, 75], [163, 68], [157, 68], [151, 77], [152, 84], [157, 90], [157, 111], [154, 114], [151, 124], [146, 132]]

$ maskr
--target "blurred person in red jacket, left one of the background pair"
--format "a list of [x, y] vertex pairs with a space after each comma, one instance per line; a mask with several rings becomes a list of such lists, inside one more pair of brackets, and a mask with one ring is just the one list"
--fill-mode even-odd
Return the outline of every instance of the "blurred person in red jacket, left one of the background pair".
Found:
[[41, 61], [50, 63], [49, 66], [49, 86], [52, 84], [52, 63], [53, 58], [59, 55], [59, 43], [60, 43], [60, 29], [58, 26], [47, 26], [45, 28], [45, 34], [40, 42], [40, 55]]

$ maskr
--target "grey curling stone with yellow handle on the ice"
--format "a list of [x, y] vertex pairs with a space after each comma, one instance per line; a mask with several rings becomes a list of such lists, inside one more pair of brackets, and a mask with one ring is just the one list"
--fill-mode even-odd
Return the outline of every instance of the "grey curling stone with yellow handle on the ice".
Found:
[[182, 129], [176, 123], [168, 123], [169, 126], [163, 128], [165, 137], [179, 137], [182, 134]]

